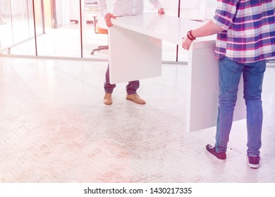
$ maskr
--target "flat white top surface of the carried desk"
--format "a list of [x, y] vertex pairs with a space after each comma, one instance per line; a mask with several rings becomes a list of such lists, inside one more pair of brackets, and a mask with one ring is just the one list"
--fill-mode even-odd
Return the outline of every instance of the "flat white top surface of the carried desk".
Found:
[[[125, 27], [157, 39], [163, 39], [173, 44], [182, 44], [182, 37], [189, 30], [202, 26], [204, 23], [195, 20], [177, 18], [171, 15], [158, 15], [157, 13], [143, 13], [142, 15], [117, 17], [112, 20], [114, 25]], [[167, 28], [169, 27], [169, 28]], [[203, 42], [216, 39], [216, 36], [202, 37], [195, 42]]]

